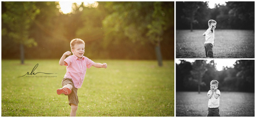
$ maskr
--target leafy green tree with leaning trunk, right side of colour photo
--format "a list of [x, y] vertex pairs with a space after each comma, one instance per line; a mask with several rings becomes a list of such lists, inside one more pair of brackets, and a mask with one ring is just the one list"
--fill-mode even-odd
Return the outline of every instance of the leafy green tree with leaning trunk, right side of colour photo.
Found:
[[[108, 2], [113, 8], [103, 20], [104, 45], [150, 42], [155, 46], [158, 65], [162, 66], [160, 42], [163, 32], [174, 25], [174, 2]], [[141, 52], [142, 53], [142, 52]]]

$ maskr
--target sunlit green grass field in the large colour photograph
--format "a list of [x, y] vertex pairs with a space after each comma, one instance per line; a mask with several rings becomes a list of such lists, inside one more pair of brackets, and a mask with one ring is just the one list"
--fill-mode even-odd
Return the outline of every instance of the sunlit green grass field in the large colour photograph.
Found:
[[[174, 61], [94, 61], [108, 68], [87, 69], [77, 116], [174, 116]], [[2, 60], [2, 116], [69, 116], [68, 97], [56, 93], [66, 72], [58, 62]], [[35, 73], [57, 74], [19, 77], [37, 63]]]

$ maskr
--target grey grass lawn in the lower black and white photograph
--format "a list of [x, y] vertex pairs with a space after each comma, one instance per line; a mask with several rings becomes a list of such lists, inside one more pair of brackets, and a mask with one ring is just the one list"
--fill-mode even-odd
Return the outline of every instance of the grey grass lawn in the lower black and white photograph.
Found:
[[[207, 116], [207, 92], [176, 92], [176, 116]], [[221, 92], [220, 116], [254, 116], [254, 93]]]

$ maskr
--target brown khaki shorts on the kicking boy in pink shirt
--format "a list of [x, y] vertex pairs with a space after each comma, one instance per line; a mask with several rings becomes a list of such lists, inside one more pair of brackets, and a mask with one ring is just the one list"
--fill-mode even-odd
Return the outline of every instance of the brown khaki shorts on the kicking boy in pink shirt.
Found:
[[75, 88], [75, 85], [73, 83], [73, 80], [70, 78], [63, 78], [61, 85], [62, 87], [67, 85], [67, 84], [71, 84], [72, 85], [72, 92], [68, 95], [68, 101], [69, 101], [69, 105], [71, 106], [71, 104], [75, 104], [76, 106], [78, 106], [78, 96], [77, 96], [77, 90], [78, 88]]

